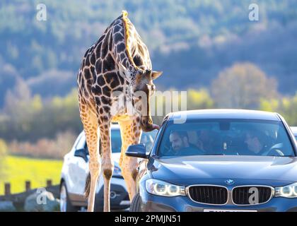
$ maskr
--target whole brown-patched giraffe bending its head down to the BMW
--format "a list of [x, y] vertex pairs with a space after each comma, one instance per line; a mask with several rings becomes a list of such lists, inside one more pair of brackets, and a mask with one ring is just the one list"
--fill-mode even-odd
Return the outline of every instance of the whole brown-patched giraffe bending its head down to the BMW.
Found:
[[127, 11], [122, 11], [86, 50], [77, 75], [79, 112], [90, 155], [85, 189], [89, 212], [94, 209], [100, 172], [104, 181], [103, 210], [110, 211], [110, 179], [114, 168], [110, 124], [114, 121], [120, 124], [119, 163], [130, 201], [136, 194], [138, 162], [136, 157], [128, 157], [124, 152], [129, 145], [139, 143], [141, 131], [158, 129], [151, 119], [149, 98], [156, 90], [153, 80], [162, 72], [152, 71], [148, 48], [127, 15]]

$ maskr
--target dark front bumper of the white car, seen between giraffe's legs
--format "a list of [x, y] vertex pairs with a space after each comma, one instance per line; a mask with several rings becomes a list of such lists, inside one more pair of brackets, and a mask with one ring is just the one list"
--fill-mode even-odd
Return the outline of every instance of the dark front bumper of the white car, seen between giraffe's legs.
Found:
[[[95, 210], [103, 210], [104, 186], [96, 194]], [[129, 195], [124, 179], [112, 177], [110, 182], [110, 208], [122, 210], [130, 207]]]

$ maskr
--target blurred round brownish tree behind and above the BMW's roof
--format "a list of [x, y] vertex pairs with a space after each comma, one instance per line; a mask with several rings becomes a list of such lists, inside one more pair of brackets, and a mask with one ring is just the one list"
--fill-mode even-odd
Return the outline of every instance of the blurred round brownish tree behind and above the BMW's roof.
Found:
[[219, 73], [211, 84], [217, 107], [257, 109], [261, 98], [278, 97], [277, 83], [257, 66], [250, 63], [234, 64]]

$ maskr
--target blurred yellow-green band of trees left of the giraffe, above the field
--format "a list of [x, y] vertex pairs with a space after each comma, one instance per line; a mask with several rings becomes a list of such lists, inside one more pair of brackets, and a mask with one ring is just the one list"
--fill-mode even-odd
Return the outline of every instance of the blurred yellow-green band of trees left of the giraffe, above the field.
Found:
[[40, 95], [25, 95], [25, 90], [20, 83], [6, 96], [0, 124], [0, 136], [6, 141], [37, 141], [40, 138], [55, 138], [59, 132], [77, 134], [81, 131], [76, 89], [65, 97], [53, 97], [43, 102]]

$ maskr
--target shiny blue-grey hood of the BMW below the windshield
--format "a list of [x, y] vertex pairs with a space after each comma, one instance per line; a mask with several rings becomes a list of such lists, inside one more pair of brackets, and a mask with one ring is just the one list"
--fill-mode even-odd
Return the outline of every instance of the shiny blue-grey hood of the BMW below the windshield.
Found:
[[207, 155], [164, 157], [150, 168], [153, 178], [175, 184], [240, 179], [297, 182], [297, 157]]

